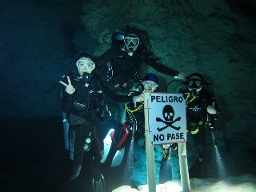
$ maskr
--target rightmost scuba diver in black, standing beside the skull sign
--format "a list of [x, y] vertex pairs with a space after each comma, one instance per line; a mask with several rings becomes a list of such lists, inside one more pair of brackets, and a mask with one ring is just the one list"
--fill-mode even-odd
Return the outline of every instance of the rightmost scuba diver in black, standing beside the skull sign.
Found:
[[214, 121], [220, 111], [214, 95], [206, 89], [207, 82], [202, 74], [190, 74], [186, 79], [186, 89], [180, 90], [186, 99], [186, 126], [188, 133], [193, 135], [198, 161], [202, 162], [206, 154], [206, 128], [214, 130]]

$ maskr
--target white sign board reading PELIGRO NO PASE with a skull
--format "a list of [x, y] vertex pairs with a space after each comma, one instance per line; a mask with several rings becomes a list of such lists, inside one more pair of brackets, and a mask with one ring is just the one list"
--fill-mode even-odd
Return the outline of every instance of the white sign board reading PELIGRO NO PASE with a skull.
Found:
[[148, 114], [154, 145], [186, 142], [186, 99], [182, 94], [151, 93]]

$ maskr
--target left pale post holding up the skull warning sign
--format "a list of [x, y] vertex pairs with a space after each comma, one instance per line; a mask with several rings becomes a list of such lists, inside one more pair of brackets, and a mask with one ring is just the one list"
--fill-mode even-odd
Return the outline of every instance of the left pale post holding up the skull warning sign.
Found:
[[149, 192], [156, 192], [155, 183], [155, 166], [154, 166], [154, 145], [150, 139], [149, 130], [149, 114], [148, 114], [148, 100], [149, 93], [145, 93], [144, 97], [144, 115], [145, 115], [145, 138], [146, 138], [146, 170], [147, 170], [147, 183]]

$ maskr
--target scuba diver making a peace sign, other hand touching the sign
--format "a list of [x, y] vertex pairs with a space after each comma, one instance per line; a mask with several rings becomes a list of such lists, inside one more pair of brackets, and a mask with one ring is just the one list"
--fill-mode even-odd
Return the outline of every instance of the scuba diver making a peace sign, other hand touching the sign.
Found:
[[[104, 176], [99, 170], [103, 154], [102, 133], [99, 122], [108, 117], [106, 100], [113, 102], [140, 102], [142, 96], [116, 95], [99, 81], [94, 58], [82, 53], [76, 59], [77, 71], [62, 77], [62, 112], [68, 122], [70, 159], [74, 169], [70, 181], [78, 178], [84, 158], [89, 159], [93, 174], [93, 191], [106, 191]], [[86, 154], [86, 155], [84, 155]]]

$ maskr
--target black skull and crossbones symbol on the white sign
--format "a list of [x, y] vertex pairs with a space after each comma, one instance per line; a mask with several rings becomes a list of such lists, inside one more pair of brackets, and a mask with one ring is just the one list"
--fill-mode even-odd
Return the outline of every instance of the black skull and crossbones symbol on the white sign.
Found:
[[173, 126], [174, 122], [178, 122], [181, 120], [181, 117], [174, 119], [174, 108], [170, 105], [166, 105], [163, 107], [162, 109], [162, 116], [165, 120], [162, 120], [162, 118], [156, 118], [157, 122], [163, 122], [166, 124], [166, 126], [163, 126], [162, 128], [157, 128], [157, 130], [160, 132], [162, 130], [165, 130], [168, 126], [170, 126], [171, 128], [173, 128], [174, 130], [180, 130], [181, 127], [180, 126]]

